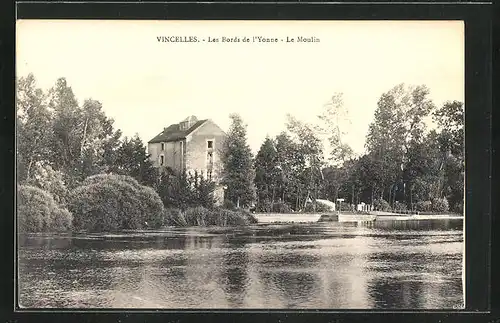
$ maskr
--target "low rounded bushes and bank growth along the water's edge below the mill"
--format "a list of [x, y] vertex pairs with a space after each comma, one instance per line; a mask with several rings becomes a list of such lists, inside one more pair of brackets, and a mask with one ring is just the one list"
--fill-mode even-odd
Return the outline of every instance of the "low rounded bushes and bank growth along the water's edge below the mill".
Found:
[[71, 229], [105, 232], [162, 226], [238, 226], [257, 222], [249, 212], [242, 210], [203, 206], [165, 209], [154, 189], [125, 175], [100, 174], [86, 178], [69, 192], [64, 206], [41, 188], [20, 185], [18, 190], [21, 232]]

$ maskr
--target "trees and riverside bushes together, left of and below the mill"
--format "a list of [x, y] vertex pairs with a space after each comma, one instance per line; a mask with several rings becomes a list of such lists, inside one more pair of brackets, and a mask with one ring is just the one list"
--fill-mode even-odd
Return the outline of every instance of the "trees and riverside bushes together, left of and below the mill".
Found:
[[78, 102], [65, 78], [44, 91], [17, 80], [18, 224], [24, 232], [241, 225], [245, 212], [215, 207], [200, 173], [154, 167], [138, 135], [124, 137], [94, 99]]

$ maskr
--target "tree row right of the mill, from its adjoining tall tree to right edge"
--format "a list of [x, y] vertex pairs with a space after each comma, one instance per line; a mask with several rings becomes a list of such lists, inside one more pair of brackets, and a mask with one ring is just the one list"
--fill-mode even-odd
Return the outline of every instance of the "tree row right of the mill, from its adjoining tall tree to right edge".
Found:
[[285, 130], [267, 137], [255, 157], [243, 121], [233, 116], [225, 150], [228, 198], [255, 203], [260, 212], [307, 211], [316, 199], [344, 198], [347, 208], [364, 202], [383, 211], [462, 213], [464, 105], [437, 107], [429, 94], [424, 85], [405, 84], [383, 93], [361, 156], [345, 143], [342, 124], [349, 118], [341, 93], [313, 124], [288, 115]]

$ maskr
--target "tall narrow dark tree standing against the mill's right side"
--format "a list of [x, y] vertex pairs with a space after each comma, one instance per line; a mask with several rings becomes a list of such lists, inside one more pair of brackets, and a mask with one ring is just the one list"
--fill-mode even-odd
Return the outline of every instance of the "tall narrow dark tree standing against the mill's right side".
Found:
[[221, 183], [225, 185], [225, 199], [237, 207], [249, 207], [255, 201], [252, 151], [247, 143], [246, 125], [238, 114], [231, 114], [231, 126], [224, 141], [221, 161]]

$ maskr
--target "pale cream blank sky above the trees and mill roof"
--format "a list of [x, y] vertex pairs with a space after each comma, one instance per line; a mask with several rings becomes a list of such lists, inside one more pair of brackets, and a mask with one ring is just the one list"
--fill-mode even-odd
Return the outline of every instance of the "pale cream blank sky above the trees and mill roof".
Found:
[[[240, 42], [208, 42], [223, 36]], [[242, 42], [256, 36], [278, 42]], [[319, 42], [286, 42], [298, 36]], [[33, 73], [43, 89], [65, 77], [80, 103], [100, 101], [144, 142], [189, 115], [227, 131], [238, 113], [254, 153], [287, 114], [316, 122], [335, 93], [344, 141], [361, 154], [379, 97], [397, 84], [425, 84], [437, 106], [465, 92], [461, 21], [19, 20], [16, 60], [18, 77]]]

